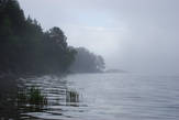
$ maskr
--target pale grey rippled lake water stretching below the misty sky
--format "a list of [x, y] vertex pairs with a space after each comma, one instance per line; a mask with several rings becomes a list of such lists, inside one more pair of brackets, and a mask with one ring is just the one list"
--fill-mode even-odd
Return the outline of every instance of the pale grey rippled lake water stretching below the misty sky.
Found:
[[79, 74], [20, 80], [20, 87], [38, 86], [48, 98], [41, 110], [22, 110], [24, 120], [179, 120], [179, 76]]

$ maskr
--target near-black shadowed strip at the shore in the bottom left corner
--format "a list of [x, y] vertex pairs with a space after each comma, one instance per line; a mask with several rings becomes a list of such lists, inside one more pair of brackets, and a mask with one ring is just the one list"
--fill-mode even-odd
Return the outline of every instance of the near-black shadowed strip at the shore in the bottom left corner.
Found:
[[19, 118], [16, 108], [16, 83], [13, 76], [0, 78], [0, 120]]

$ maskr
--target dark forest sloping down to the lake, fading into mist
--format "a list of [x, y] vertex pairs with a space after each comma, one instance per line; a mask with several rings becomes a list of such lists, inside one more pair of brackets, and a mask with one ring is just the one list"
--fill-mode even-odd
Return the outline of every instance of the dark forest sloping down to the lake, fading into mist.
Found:
[[25, 18], [16, 0], [0, 0], [0, 73], [93, 73], [104, 69], [102, 56], [68, 45], [58, 26], [44, 31]]

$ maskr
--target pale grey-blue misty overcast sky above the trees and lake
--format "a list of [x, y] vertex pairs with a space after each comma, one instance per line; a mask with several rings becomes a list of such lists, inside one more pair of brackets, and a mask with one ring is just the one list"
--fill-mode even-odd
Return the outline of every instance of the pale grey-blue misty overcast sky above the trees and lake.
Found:
[[59, 26], [108, 68], [179, 74], [179, 0], [19, 1], [43, 29]]

